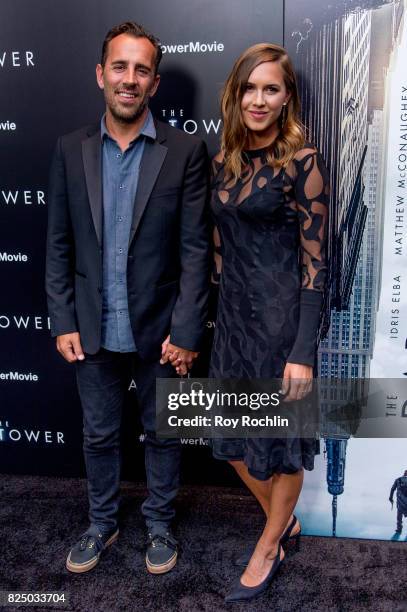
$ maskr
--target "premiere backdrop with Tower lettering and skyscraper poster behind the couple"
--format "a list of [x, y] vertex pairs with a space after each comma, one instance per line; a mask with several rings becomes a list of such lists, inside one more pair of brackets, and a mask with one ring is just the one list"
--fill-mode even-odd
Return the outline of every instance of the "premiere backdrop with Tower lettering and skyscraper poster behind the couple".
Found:
[[[83, 474], [74, 371], [50, 338], [43, 289], [47, 177], [57, 136], [103, 112], [95, 65], [107, 30], [125, 20], [139, 21], [164, 45], [155, 115], [204, 138], [211, 154], [221, 132], [219, 95], [235, 58], [260, 41], [286, 46], [304, 123], [331, 174], [332, 273], [320, 375], [406, 375], [404, 15], [404, 1], [2, 1], [1, 472]], [[212, 312], [206, 358], [213, 327]], [[204, 369], [205, 358], [201, 375]], [[399, 414], [405, 399], [393, 398], [391, 410]], [[143, 448], [131, 380], [124, 419], [124, 476], [139, 480]], [[299, 507], [306, 532], [392, 537], [388, 496], [407, 469], [405, 441], [322, 433], [323, 452]], [[184, 445], [184, 481], [236, 482], [205, 441]]]

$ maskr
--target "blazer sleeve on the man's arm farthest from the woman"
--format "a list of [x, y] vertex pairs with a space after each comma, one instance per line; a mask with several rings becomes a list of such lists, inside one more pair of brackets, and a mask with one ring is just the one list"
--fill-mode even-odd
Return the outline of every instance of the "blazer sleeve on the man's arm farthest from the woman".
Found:
[[74, 306], [74, 242], [68, 208], [65, 164], [58, 140], [48, 185], [45, 290], [52, 336], [78, 331]]

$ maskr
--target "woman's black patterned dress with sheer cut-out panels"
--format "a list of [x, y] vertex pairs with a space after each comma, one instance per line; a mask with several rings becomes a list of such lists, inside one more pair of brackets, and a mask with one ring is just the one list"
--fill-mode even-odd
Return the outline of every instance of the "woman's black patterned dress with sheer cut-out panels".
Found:
[[[244, 153], [237, 182], [213, 162], [219, 302], [212, 378], [281, 378], [287, 362], [314, 366], [325, 288], [329, 183], [306, 144], [282, 169], [267, 150]], [[312, 470], [317, 440], [213, 439], [218, 459], [244, 460], [260, 480]]]

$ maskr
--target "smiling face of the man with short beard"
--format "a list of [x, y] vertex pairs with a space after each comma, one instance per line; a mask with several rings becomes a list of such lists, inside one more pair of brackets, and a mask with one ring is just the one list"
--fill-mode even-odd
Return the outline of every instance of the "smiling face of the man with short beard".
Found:
[[137, 121], [157, 91], [156, 50], [147, 38], [120, 34], [109, 42], [104, 67], [96, 66], [107, 112], [120, 123]]

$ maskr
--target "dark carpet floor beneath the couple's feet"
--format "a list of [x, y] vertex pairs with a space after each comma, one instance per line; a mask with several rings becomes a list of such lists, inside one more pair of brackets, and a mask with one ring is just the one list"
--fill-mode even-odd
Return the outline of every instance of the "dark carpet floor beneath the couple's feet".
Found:
[[264, 596], [226, 606], [223, 597], [239, 574], [233, 560], [263, 521], [240, 489], [181, 490], [175, 532], [182, 553], [163, 576], [144, 565], [142, 486], [123, 484], [119, 540], [82, 575], [70, 574], [65, 558], [87, 528], [85, 481], [0, 476], [0, 493], [0, 589], [66, 591], [68, 610], [407, 611], [405, 543], [317, 537], [302, 538], [301, 551], [287, 558]]

